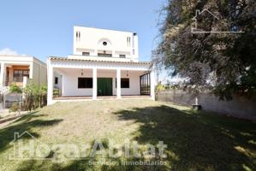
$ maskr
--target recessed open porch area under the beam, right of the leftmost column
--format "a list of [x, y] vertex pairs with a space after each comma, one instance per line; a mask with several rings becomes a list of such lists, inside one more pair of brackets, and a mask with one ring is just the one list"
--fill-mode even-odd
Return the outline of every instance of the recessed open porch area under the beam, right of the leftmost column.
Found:
[[93, 74], [93, 69], [88, 68], [55, 68], [53, 98], [71, 100], [150, 96], [148, 71], [95, 70]]

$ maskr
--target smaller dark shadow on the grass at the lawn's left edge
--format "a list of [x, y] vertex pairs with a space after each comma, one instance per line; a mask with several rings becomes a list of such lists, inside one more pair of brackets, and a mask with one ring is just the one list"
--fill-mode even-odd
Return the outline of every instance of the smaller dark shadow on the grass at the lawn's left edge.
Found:
[[[29, 115], [24, 115], [17, 121], [10, 124], [8, 127], [5, 127], [0, 130], [0, 152], [9, 149], [10, 142], [14, 139], [15, 132], [23, 133], [25, 131], [31, 133], [33, 137], [38, 138], [39, 133], [33, 132], [35, 127], [51, 127], [56, 125], [63, 120], [41, 120], [36, 119], [37, 117], [42, 117], [44, 115], [34, 115], [34, 113]], [[22, 139], [30, 139], [31, 137], [22, 137]]]

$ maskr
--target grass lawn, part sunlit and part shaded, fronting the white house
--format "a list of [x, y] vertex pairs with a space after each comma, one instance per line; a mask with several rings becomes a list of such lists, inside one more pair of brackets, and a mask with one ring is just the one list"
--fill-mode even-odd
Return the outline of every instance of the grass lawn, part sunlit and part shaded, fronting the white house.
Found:
[[[28, 131], [37, 144], [92, 144], [102, 139], [124, 144], [136, 140], [167, 144], [167, 158], [151, 158], [164, 165], [122, 165], [146, 157], [111, 158], [98, 155], [68, 159], [67, 151], [51, 150], [47, 160], [9, 160], [15, 132]], [[187, 107], [150, 100], [102, 100], [56, 103], [0, 129], [0, 170], [256, 170], [256, 124]], [[26, 142], [30, 139], [27, 137]], [[51, 160], [52, 159], [52, 160]], [[107, 161], [117, 164], [92, 164]]]

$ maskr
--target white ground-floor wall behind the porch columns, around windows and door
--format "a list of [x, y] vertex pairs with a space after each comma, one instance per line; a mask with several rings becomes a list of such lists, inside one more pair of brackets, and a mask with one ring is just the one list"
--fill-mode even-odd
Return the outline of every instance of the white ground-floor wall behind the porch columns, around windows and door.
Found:
[[[92, 96], [92, 89], [78, 89], [78, 77], [91, 77], [92, 69], [84, 70], [81, 76], [81, 69], [68, 69], [63, 74], [63, 96]], [[141, 72], [122, 71], [122, 78], [129, 78], [129, 88], [122, 88], [121, 95], [140, 95]], [[98, 70], [98, 78], [112, 78], [113, 95], [116, 95], [116, 70]]]

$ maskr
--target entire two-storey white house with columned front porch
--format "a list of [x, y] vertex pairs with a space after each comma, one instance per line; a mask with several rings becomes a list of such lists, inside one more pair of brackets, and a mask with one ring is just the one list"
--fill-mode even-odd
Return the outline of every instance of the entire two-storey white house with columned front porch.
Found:
[[74, 27], [74, 55], [48, 58], [48, 104], [98, 97], [154, 99], [152, 63], [138, 57], [134, 32]]

